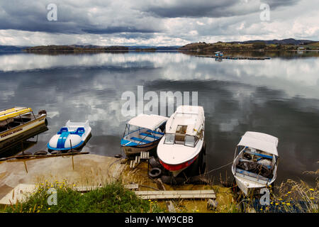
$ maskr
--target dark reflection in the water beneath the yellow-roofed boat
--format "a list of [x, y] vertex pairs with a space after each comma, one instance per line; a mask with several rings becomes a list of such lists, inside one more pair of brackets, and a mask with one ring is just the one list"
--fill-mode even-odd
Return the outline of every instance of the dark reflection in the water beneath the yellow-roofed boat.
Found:
[[[40, 126], [31, 128], [30, 130], [14, 136], [13, 138], [9, 138], [8, 140], [0, 142], [1, 157], [9, 157], [11, 155], [16, 155], [21, 151], [23, 152], [24, 150], [28, 150], [28, 148], [32, 147], [38, 142], [38, 134], [47, 130], [47, 126], [45, 126], [45, 124], [41, 124]], [[30, 138], [34, 138], [35, 136], [35, 141], [31, 141]]]

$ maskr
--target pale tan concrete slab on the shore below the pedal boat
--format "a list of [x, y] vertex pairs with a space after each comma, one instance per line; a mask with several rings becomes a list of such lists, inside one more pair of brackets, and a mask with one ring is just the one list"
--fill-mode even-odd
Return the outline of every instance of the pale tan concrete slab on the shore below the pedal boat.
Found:
[[101, 155], [43, 157], [0, 162], [0, 199], [18, 184], [65, 180], [76, 186], [94, 186], [117, 179], [125, 165], [121, 159]]

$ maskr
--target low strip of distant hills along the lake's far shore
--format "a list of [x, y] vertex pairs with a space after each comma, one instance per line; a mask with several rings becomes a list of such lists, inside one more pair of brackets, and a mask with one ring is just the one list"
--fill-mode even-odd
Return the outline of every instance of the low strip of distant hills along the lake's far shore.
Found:
[[0, 45], [0, 51], [26, 51], [26, 52], [103, 52], [103, 51], [199, 51], [211, 52], [217, 50], [297, 50], [298, 48], [306, 50], [319, 50], [319, 42], [313, 40], [296, 40], [287, 38], [284, 40], [247, 40], [231, 41], [217, 43], [189, 43], [184, 46], [100, 46], [91, 44], [74, 44], [74, 45], [40, 45], [35, 47], [21, 47], [15, 45]]

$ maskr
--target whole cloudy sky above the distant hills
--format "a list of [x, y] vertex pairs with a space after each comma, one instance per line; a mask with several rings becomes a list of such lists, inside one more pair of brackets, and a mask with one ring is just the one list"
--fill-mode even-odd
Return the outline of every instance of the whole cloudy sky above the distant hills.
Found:
[[0, 45], [319, 40], [318, 0], [0, 0]]

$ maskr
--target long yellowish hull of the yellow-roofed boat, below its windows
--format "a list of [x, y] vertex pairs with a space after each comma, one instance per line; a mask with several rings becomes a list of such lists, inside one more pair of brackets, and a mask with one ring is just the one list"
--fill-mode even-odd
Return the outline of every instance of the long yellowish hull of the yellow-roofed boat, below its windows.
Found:
[[18, 135], [26, 133], [32, 128], [45, 124], [45, 118], [46, 118], [46, 114], [42, 114], [41, 116], [39, 116], [38, 118], [35, 118], [34, 120], [31, 120], [27, 123], [23, 123], [20, 126], [16, 126], [14, 128], [11, 128], [8, 131], [4, 131], [3, 133], [0, 133], [0, 142], [1, 143], [6, 142], [6, 140], [13, 139], [17, 137]]

